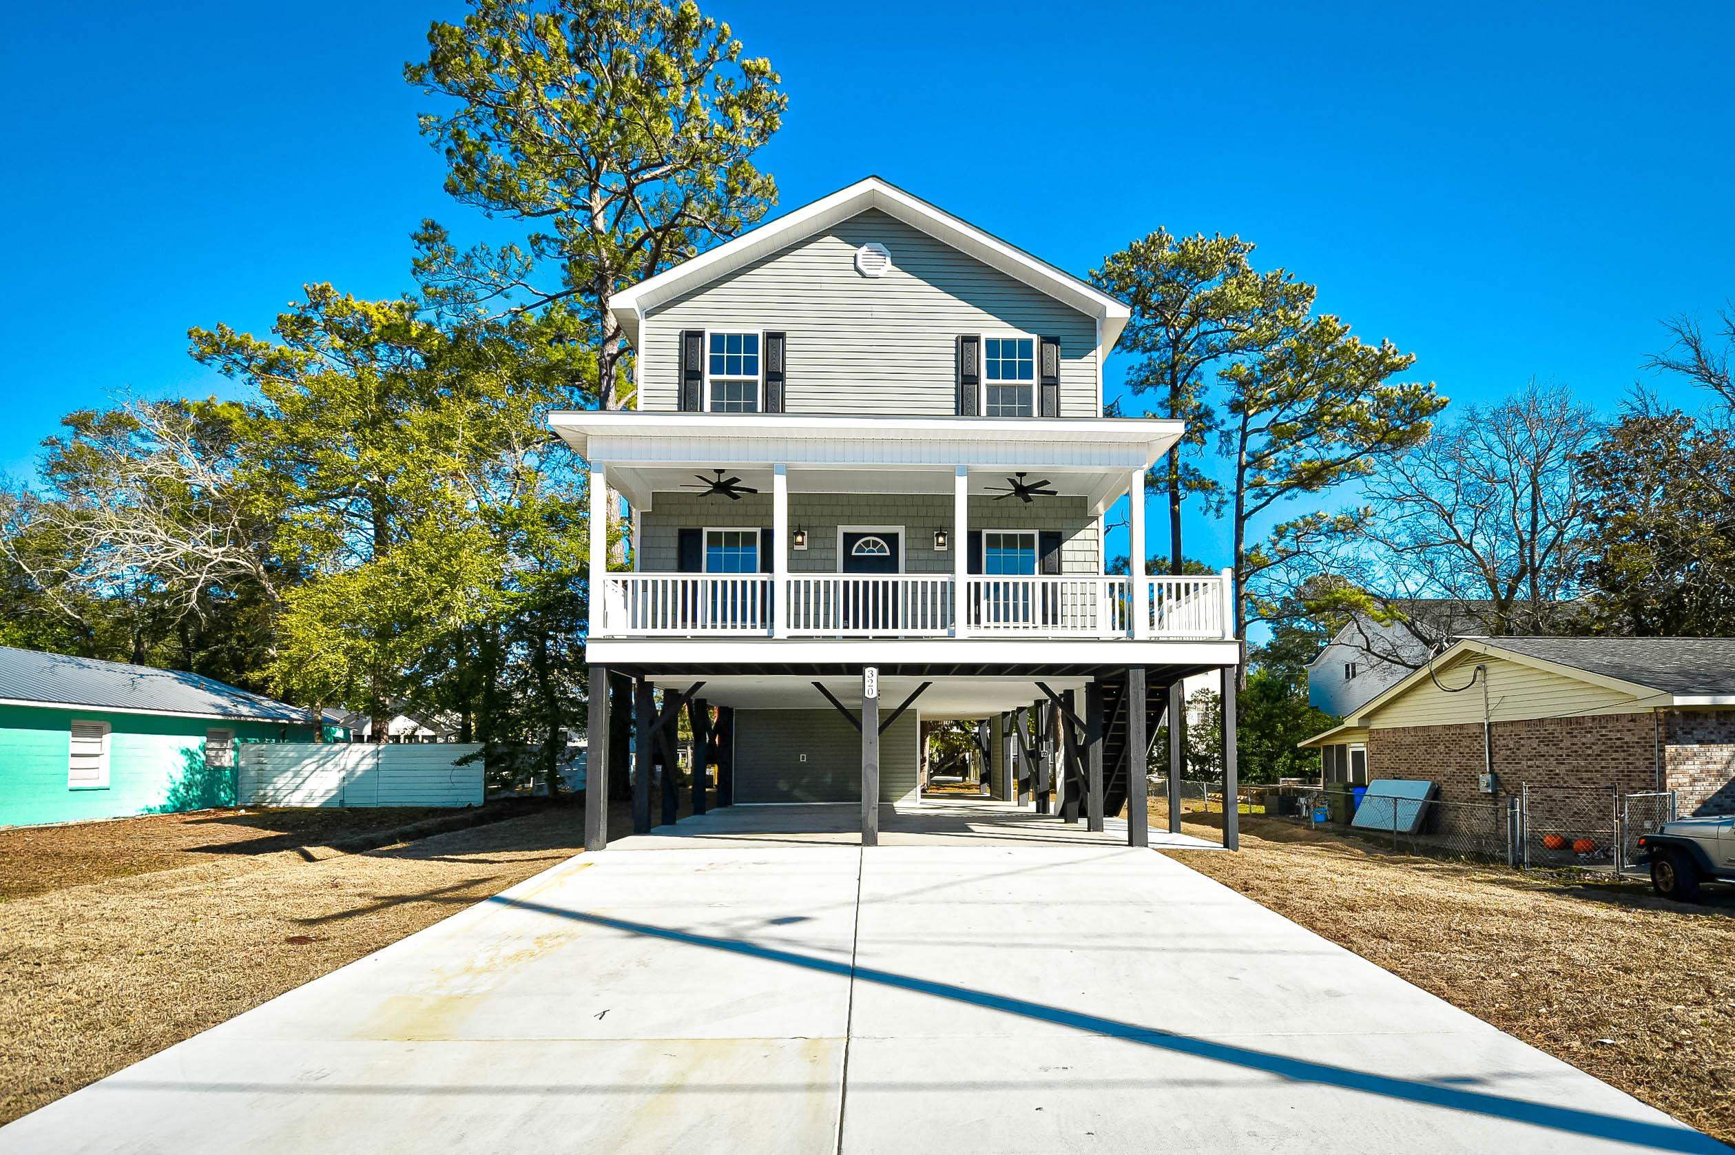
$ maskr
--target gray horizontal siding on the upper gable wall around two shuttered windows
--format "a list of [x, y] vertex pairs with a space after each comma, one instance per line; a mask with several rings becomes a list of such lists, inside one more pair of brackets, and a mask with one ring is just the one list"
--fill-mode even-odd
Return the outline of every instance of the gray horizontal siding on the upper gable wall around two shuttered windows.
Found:
[[[855, 272], [880, 241], [894, 269]], [[1097, 323], [880, 210], [798, 241], [642, 323], [640, 409], [677, 409], [680, 331], [788, 333], [788, 413], [956, 411], [956, 338], [1017, 330], [1060, 342], [1060, 416], [1100, 416]]]

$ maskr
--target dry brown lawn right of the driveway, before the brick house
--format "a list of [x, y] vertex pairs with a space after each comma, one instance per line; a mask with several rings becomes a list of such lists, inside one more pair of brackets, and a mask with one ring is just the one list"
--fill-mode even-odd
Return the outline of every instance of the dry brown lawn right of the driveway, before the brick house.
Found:
[[[1152, 815], [1161, 827], [1156, 808]], [[1182, 829], [1220, 836], [1216, 827]], [[1175, 857], [1681, 1122], [1735, 1141], [1728, 890], [1707, 890], [1706, 905], [1683, 905], [1636, 883], [1390, 855], [1246, 817], [1241, 848]]]

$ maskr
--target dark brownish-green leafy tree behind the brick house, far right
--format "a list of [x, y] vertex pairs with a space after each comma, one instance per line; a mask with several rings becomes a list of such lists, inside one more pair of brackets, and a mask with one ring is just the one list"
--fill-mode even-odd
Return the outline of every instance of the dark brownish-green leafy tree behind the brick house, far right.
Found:
[[1735, 633], [1732, 432], [1641, 399], [1577, 458], [1596, 630], [1634, 636]]

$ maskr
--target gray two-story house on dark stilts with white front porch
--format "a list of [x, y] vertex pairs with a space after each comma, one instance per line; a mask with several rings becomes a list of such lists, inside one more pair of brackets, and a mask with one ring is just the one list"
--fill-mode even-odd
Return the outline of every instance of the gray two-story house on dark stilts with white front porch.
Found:
[[[590, 467], [586, 846], [628, 706], [635, 831], [685, 709], [696, 808], [715, 770], [725, 805], [859, 803], [873, 845], [880, 806], [921, 805], [920, 723], [961, 718], [994, 796], [1097, 831], [1124, 805], [1147, 845], [1162, 709], [1220, 669], [1234, 716], [1241, 647], [1227, 574], [1142, 564], [1145, 472], [1182, 425], [1103, 416], [1128, 307], [873, 177], [612, 307], [637, 409], [552, 418]], [[607, 569], [611, 489], [630, 572]], [[1109, 574], [1128, 494], [1131, 572]]]

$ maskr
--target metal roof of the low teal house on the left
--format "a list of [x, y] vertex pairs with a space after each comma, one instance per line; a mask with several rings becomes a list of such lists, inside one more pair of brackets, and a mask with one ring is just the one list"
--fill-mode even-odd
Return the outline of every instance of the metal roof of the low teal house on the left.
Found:
[[0, 702], [128, 715], [311, 721], [298, 706], [180, 669], [104, 662], [0, 645]]

